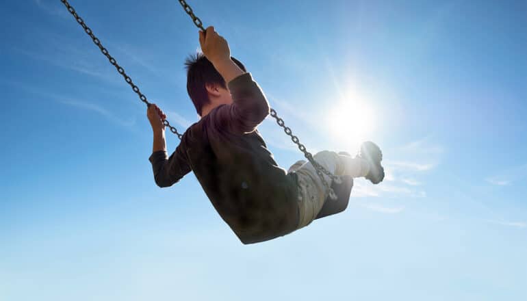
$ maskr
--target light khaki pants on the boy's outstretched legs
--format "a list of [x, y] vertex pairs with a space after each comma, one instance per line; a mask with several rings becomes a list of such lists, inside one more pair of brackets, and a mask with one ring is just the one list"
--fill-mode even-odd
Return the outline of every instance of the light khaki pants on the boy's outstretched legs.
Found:
[[[370, 170], [368, 161], [364, 159], [339, 155], [329, 150], [322, 150], [313, 158], [337, 176], [348, 175], [356, 178], [365, 176]], [[298, 209], [300, 212], [298, 228], [303, 228], [316, 218], [329, 192], [310, 162], [297, 161], [287, 172], [296, 172], [298, 175]], [[324, 179], [331, 186], [331, 178], [324, 174]]]

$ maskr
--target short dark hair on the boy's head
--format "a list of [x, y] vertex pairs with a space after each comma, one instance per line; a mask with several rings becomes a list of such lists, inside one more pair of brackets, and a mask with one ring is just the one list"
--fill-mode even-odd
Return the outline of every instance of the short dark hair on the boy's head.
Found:
[[[231, 57], [231, 60], [246, 72], [245, 66], [240, 61], [234, 57]], [[196, 55], [189, 55], [185, 60], [185, 67], [187, 68], [188, 96], [192, 99], [196, 112], [201, 116], [203, 105], [210, 103], [205, 83], [216, 83], [222, 88], [227, 88], [227, 83], [214, 68], [214, 65], [201, 52], [196, 53]]]

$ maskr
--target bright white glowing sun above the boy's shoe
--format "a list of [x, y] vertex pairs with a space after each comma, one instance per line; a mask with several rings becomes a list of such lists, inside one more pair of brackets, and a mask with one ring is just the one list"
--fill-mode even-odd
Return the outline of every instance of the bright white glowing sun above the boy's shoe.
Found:
[[349, 100], [336, 103], [329, 109], [327, 125], [331, 136], [344, 146], [356, 146], [374, 131], [373, 109], [362, 101]]

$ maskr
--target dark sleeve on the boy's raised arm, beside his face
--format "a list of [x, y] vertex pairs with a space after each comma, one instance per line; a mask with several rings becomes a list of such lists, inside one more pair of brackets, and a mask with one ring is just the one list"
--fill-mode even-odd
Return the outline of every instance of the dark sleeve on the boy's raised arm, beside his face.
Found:
[[233, 103], [220, 105], [211, 112], [216, 127], [231, 133], [253, 132], [269, 114], [269, 103], [264, 92], [250, 73], [244, 73], [228, 84]]

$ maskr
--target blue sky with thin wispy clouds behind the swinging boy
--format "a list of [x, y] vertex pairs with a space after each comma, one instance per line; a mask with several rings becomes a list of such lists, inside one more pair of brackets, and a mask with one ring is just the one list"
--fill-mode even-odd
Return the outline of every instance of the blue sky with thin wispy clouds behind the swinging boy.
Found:
[[[177, 1], [71, 4], [173, 125], [196, 121]], [[192, 174], [155, 185], [144, 105], [62, 3], [9, 1], [0, 300], [527, 298], [526, 1], [189, 4], [312, 153], [373, 140], [387, 179], [243, 246]], [[281, 166], [301, 159], [259, 129]]]

